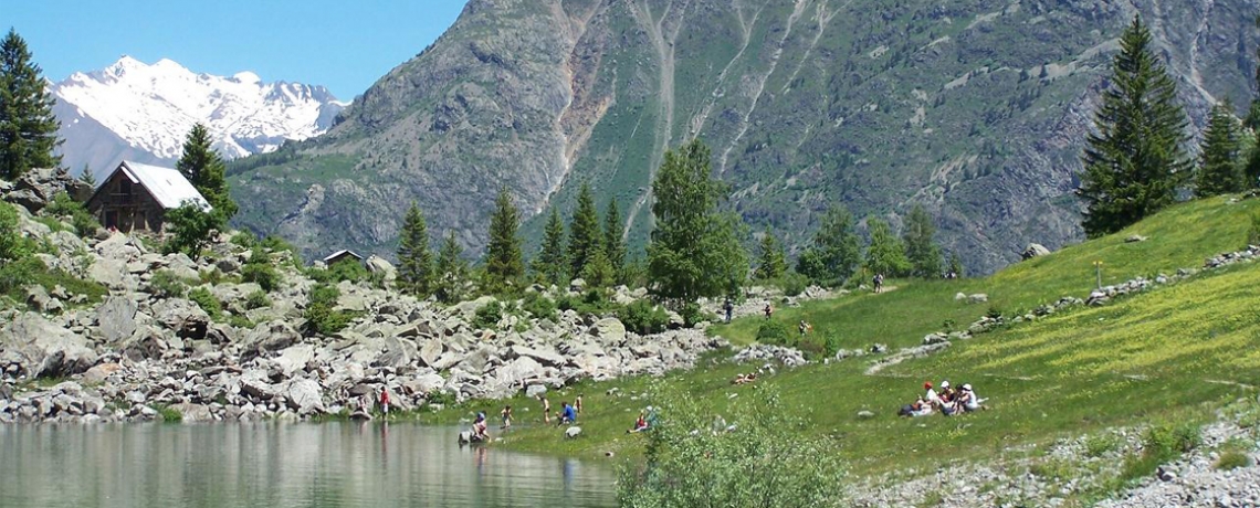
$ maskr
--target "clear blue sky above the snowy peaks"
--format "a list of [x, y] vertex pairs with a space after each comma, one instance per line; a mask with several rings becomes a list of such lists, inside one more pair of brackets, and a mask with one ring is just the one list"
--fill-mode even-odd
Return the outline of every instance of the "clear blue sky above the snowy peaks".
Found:
[[323, 84], [363, 93], [445, 31], [465, 0], [0, 0], [0, 31], [26, 40], [62, 80], [121, 55], [193, 72]]

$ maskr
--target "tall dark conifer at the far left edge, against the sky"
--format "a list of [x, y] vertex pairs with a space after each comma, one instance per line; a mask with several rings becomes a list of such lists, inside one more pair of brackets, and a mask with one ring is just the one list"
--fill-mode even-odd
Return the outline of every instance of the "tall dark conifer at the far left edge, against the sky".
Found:
[[60, 145], [53, 96], [26, 41], [9, 29], [0, 43], [0, 179], [14, 180], [33, 167], [57, 167]]

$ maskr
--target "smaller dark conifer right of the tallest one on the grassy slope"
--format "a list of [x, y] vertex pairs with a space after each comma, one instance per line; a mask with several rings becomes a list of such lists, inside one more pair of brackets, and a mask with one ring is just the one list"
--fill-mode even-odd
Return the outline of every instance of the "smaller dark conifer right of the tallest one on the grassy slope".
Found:
[[1239, 151], [1242, 143], [1239, 140], [1239, 122], [1230, 109], [1228, 102], [1216, 104], [1208, 116], [1200, 150], [1196, 197], [1242, 190], [1242, 174], [1239, 171]]

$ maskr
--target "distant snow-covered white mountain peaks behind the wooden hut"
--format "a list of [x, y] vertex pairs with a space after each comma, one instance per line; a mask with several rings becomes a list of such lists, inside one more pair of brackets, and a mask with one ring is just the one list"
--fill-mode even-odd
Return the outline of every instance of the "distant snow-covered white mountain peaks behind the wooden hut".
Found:
[[121, 160], [174, 162], [202, 122], [226, 157], [270, 152], [326, 131], [345, 106], [324, 87], [263, 83], [242, 72], [198, 74], [171, 60], [122, 57], [105, 69], [53, 84], [63, 165], [105, 172]]

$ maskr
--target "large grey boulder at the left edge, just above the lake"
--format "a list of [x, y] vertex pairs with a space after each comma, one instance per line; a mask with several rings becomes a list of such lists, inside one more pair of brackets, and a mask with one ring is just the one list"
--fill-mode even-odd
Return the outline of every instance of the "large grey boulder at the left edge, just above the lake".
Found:
[[97, 360], [87, 338], [34, 312], [18, 314], [0, 328], [0, 348], [15, 352], [29, 376], [69, 376], [88, 370]]

